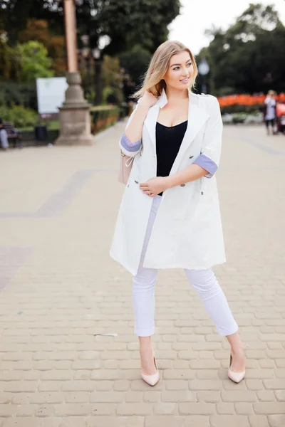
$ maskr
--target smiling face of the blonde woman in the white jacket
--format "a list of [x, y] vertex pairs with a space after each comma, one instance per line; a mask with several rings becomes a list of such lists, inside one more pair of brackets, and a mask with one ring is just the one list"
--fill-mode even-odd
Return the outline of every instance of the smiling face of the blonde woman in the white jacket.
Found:
[[168, 87], [183, 90], [192, 85], [193, 73], [194, 68], [190, 54], [185, 51], [172, 56], [170, 66], [163, 79]]

